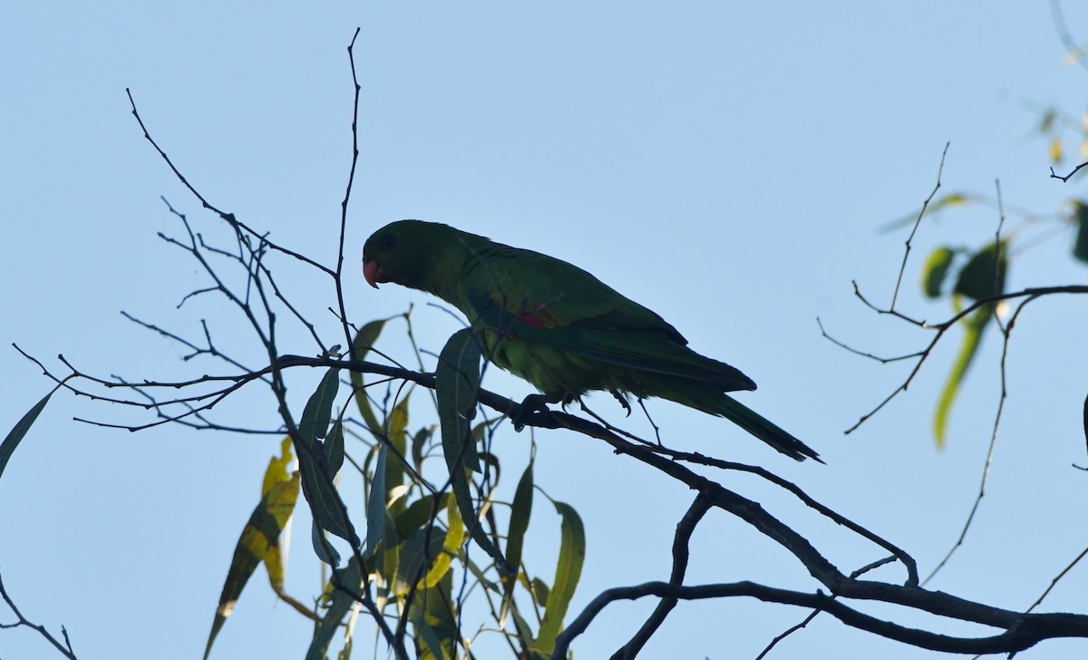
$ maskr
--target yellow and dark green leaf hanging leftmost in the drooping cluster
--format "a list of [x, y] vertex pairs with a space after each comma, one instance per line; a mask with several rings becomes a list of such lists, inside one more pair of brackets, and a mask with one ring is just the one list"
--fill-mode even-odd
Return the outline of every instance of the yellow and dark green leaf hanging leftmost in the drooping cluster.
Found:
[[262, 561], [268, 568], [272, 588], [283, 596], [280, 534], [295, 511], [299, 477], [298, 473], [287, 475], [286, 464], [290, 461], [289, 439], [283, 441], [282, 451], [283, 457], [280, 459], [273, 457], [268, 470], [264, 471], [261, 500], [249, 515], [249, 521], [243, 527], [242, 536], [234, 547], [234, 557], [231, 559], [231, 568], [227, 569], [226, 580], [223, 582], [219, 607], [215, 609], [208, 645], [205, 647], [205, 658], [208, 658], [215, 636], [234, 611], [243, 588]]

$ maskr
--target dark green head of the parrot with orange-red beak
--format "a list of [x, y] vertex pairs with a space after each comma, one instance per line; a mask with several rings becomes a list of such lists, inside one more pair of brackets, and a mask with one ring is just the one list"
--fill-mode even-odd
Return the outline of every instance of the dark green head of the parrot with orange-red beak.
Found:
[[433, 290], [430, 278], [442, 254], [458, 242], [457, 229], [421, 220], [401, 220], [371, 234], [362, 246], [362, 275], [370, 286], [393, 282]]

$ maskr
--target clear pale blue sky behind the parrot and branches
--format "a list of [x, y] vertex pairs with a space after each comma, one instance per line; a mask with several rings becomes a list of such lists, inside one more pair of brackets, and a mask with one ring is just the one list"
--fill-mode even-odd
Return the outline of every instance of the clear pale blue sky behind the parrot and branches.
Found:
[[[1065, 11], [1074, 34], [1088, 35], [1088, 13]], [[1076, 179], [1047, 177], [1047, 146], [1031, 134], [1039, 108], [1056, 104], [1077, 117], [1086, 102], [1088, 73], [1063, 64], [1046, 5], [106, 2], [61, 11], [22, 3], [0, 24], [0, 295], [9, 311], [0, 345], [15, 341], [58, 370], [59, 352], [87, 371], [126, 377], [213, 369], [182, 363], [183, 350], [126, 322], [125, 310], [186, 336], [199, 336], [208, 319], [218, 343], [258, 364], [259, 347], [227, 308], [209, 299], [175, 309], [203, 283], [157, 238], [181, 231], [160, 196], [209, 235], [221, 229], [143, 139], [124, 89], [209, 200], [331, 263], [350, 155], [346, 47], [356, 26], [361, 158], [346, 283], [354, 320], [415, 303], [418, 338], [435, 351], [457, 327], [420, 294], [362, 282], [362, 241], [393, 220], [447, 222], [577, 263], [660, 313], [696, 350], [751, 375], [759, 389], [743, 401], [828, 465], [794, 465], [721, 420], [656, 402], [667, 443], [764, 464], [912, 551], [923, 571], [940, 560], [978, 490], [1000, 344], [987, 338], [949, 447], [938, 451], [930, 419], [959, 336], [905, 395], [843, 436], [905, 371], [837, 349], [815, 319], [881, 354], [928, 339], [864, 309], [851, 281], [877, 301], [890, 299], [905, 234], [879, 228], [929, 194], [948, 141], [942, 190], [992, 195], [999, 179], [1007, 204], [1043, 214], [1079, 194]], [[979, 245], [996, 223], [985, 208], [927, 221], [907, 266], [904, 309], [947, 316], [947, 302], [918, 296], [922, 259], [939, 244]], [[1027, 232], [1047, 235], [1048, 226]], [[1018, 256], [1013, 288], [1084, 282], [1084, 266], [1067, 257], [1072, 234], [1049, 236]], [[332, 336], [329, 284], [289, 265], [283, 273]], [[1085, 321], [1075, 300], [1054, 298], [1018, 322], [987, 497], [935, 588], [1022, 609], [1088, 545], [1077, 524], [1088, 485], [1070, 466], [1086, 462]], [[285, 351], [313, 350], [297, 328], [283, 341]], [[388, 350], [407, 356], [398, 341], [391, 336]], [[0, 370], [8, 427], [49, 384], [13, 349], [0, 350]], [[489, 378], [515, 398], [530, 391], [503, 374]], [[299, 408], [314, 383], [294, 383]], [[256, 393], [222, 414], [275, 424], [274, 407]], [[135, 419], [67, 396], [50, 403], [0, 480], [4, 584], [28, 617], [51, 630], [66, 625], [81, 658], [197, 656], [279, 438], [128, 434], [73, 416]], [[631, 423], [645, 432], [644, 422]], [[520, 471], [528, 435], [500, 441], [503, 460]], [[572, 610], [603, 588], [663, 578], [691, 494], [581, 437], [542, 433], [536, 443], [537, 483], [574, 506], [589, 530]], [[812, 525], [776, 494], [724, 480], [809, 533], [844, 570], [880, 558]], [[533, 551], [546, 575], [558, 521], [539, 515]], [[790, 558], [724, 514], [700, 527], [692, 562], [692, 582], [813, 588]], [[1086, 570], [1043, 609], [1083, 611]], [[316, 590], [305, 540], [288, 571], [296, 596]], [[576, 652], [610, 653], [650, 607], [609, 608]], [[692, 658], [754, 657], [804, 614], [750, 600], [684, 603], [645, 657], [677, 648]], [[258, 580], [213, 657], [297, 657], [307, 635]], [[842, 657], [843, 648], [856, 657], [929, 656], [820, 617], [772, 657]], [[1084, 643], [1049, 643], [1021, 657], [1084, 650]], [[25, 631], [0, 631], [0, 657], [51, 656]]]

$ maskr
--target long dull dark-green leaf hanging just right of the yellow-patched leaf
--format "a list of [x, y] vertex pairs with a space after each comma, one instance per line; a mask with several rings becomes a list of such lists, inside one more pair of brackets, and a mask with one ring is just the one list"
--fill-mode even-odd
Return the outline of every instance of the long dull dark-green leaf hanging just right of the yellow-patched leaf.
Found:
[[[298, 469], [302, 474], [302, 493], [306, 495], [306, 501], [310, 503], [314, 524], [348, 541], [353, 548], [357, 548], [359, 538], [356, 536], [351, 520], [347, 516], [347, 508], [333, 483], [336, 473], [332, 470], [324, 444], [317, 438], [318, 429], [326, 428], [332, 419], [333, 400], [338, 384], [339, 370], [330, 369], [306, 403], [302, 419], [298, 423], [299, 437], [296, 440], [298, 446], [295, 447], [295, 453], [298, 454]], [[322, 420], [324, 420], [323, 426]], [[316, 547], [320, 548], [321, 544], [317, 538], [314, 540]]]

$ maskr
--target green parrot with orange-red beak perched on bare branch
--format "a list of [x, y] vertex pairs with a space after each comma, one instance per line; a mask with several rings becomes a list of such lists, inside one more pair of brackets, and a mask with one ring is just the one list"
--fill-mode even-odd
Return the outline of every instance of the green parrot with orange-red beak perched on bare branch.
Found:
[[[543, 401], [567, 403], [606, 390], [630, 412], [627, 394], [662, 397], [727, 418], [793, 459], [819, 461], [804, 443], [725, 394], [755, 389], [740, 370], [691, 350], [664, 319], [565, 261], [403, 220], [367, 239], [362, 272], [374, 288], [393, 282], [459, 309], [484, 331], [486, 358], [533, 384]], [[533, 397], [539, 410], [541, 395], [530, 395], [523, 407]]]

